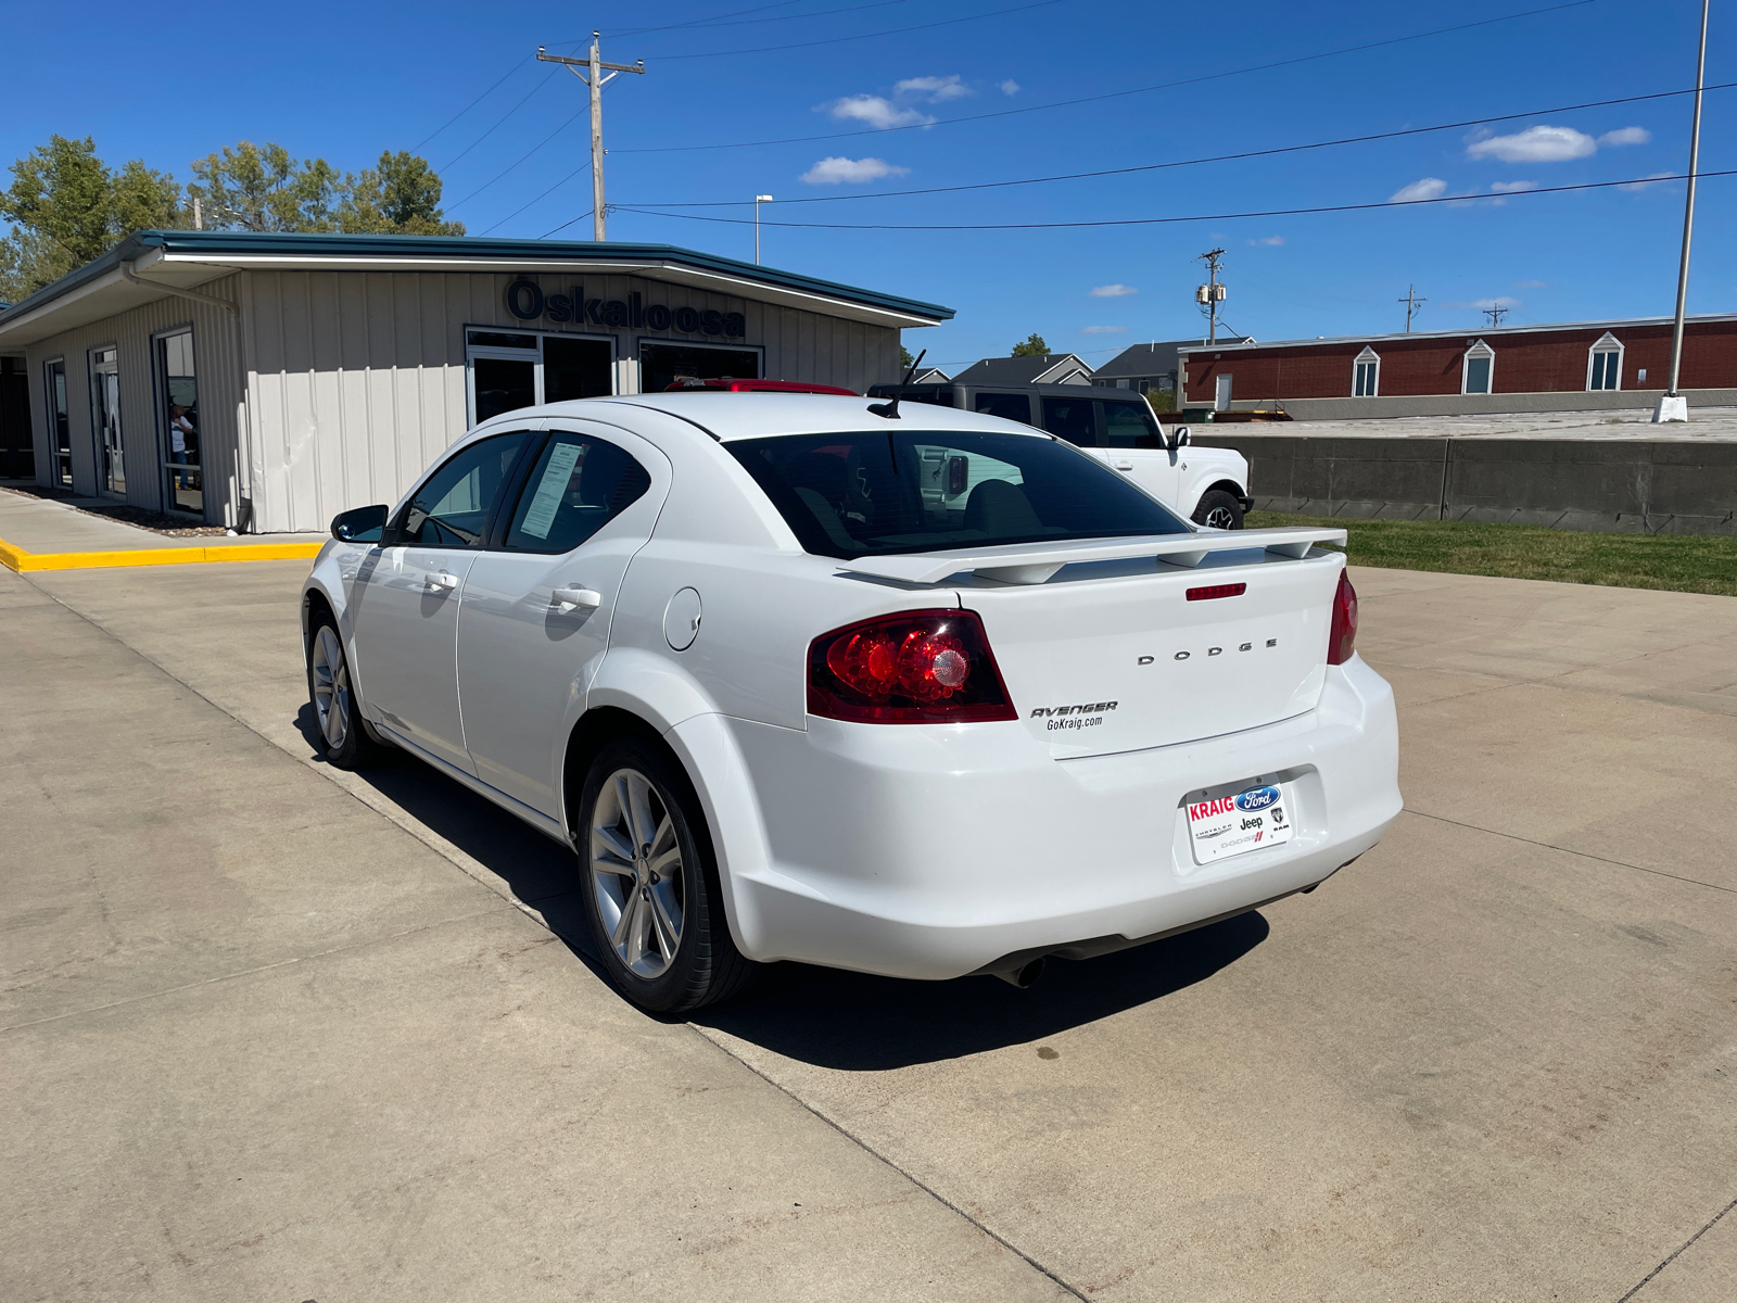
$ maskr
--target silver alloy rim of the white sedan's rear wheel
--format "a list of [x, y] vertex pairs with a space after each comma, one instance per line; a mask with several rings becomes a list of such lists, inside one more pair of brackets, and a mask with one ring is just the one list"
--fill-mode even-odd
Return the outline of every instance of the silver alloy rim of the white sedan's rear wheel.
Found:
[[662, 792], [637, 770], [611, 773], [591, 813], [591, 881], [610, 945], [636, 976], [662, 976], [681, 949], [681, 869]]

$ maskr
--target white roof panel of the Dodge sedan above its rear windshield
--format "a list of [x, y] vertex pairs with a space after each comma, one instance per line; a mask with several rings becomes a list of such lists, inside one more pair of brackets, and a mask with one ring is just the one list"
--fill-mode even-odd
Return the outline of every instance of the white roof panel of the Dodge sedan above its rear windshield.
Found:
[[[768, 438], [776, 434], [842, 434], [846, 431], [886, 429], [886, 417], [868, 410], [874, 398], [834, 398], [832, 394], [766, 394], [723, 393], [717, 389], [686, 389], [676, 394], [618, 394], [615, 398], [578, 398], [570, 403], [547, 403], [523, 408], [519, 417], [598, 417], [624, 420], [625, 412], [613, 417], [604, 408], [650, 408], [691, 420], [724, 443], [731, 440]], [[933, 403], [900, 405], [900, 424], [895, 429], [978, 429], [1001, 434], [1032, 434], [1047, 440], [1040, 429], [1018, 420], [1002, 420], [978, 412], [961, 412]]]

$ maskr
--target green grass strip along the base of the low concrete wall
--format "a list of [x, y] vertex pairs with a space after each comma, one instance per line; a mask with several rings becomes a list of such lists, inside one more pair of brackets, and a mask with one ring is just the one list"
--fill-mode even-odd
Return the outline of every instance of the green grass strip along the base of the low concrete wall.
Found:
[[1341, 526], [1351, 539], [1351, 565], [1362, 566], [1737, 596], [1737, 539], [1732, 537], [1579, 533], [1433, 519], [1329, 519], [1278, 511], [1251, 511], [1247, 523], [1249, 528]]

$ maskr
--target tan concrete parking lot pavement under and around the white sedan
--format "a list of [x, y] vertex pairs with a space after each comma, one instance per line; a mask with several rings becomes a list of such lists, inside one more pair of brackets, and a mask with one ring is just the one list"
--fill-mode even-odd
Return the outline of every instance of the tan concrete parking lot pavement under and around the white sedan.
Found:
[[0, 572], [0, 1298], [1737, 1296], [1737, 601], [1353, 572], [1407, 811], [1322, 890], [681, 1023], [314, 763], [304, 573]]

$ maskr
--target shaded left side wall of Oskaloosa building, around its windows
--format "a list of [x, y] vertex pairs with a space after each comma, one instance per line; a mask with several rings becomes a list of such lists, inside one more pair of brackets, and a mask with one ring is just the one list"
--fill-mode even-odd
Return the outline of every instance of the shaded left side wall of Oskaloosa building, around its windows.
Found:
[[[238, 283], [240, 276], [226, 276], [201, 287], [200, 292], [234, 301]], [[144, 308], [52, 335], [26, 349], [30, 420], [38, 483], [54, 483], [54, 424], [43, 384], [43, 367], [52, 358], [64, 358], [73, 490], [92, 495], [99, 492], [96, 426], [90, 410], [90, 349], [113, 344], [116, 347], [116, 374], [120, 375], [120, 433], [127, 467], [125, 500], [149, 511], [163, 509], [162, 462], [167, 438], [162, 429], [163, 413], [158, 410], [151, 337], [184, 325], [193, 327], [193, 363], [200, 380], [205, 497], [222, 504], [214, 509], [215, 523], [234, 525], [234, 504], [245, 493], [245, 488], [238, 485], [240, 467], [234, 457], [236, 433], [245, 422], [236, 330], [228, 311], [193, 299], [160, 299]]]

